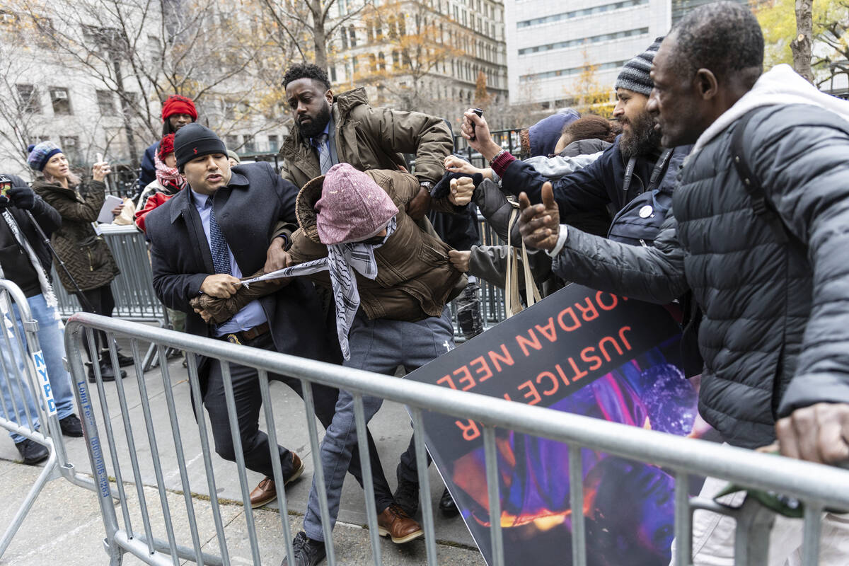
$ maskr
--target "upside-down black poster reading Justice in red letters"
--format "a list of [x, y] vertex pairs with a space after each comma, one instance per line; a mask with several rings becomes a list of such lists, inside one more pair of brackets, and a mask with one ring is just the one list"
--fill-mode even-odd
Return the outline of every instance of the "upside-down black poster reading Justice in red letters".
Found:
[[[671, 434], [715, 434], [698, 417], [698, 379], [683, 376], [680, 338], [663, 307], [572, 284], [407, 378]], [[422, 414], [428, 451], [492, 563], [481, 425]], [[496, 451], [505, 563], [571, 564], [568, 446], [496, 429]], [[588, 563], [668, 564], [672, 475], [589, 448], [582, 464]]]

